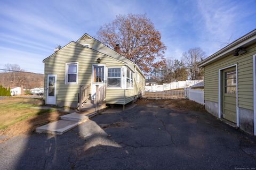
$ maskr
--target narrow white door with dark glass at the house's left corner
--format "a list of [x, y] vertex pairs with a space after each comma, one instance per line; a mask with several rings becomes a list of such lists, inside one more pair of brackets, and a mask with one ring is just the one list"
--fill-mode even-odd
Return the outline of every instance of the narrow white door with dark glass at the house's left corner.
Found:
[[56, 105], [56, 84], [57, 75], [48, 74], [47, 75], [47, 92], [46, 92], [46, 104]]

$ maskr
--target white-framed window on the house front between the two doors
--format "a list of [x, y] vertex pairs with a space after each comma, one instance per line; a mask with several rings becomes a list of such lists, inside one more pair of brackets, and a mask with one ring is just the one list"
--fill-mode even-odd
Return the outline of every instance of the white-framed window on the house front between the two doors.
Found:
[[77, 84], [78, 63], [66, 63], [66, 84]]

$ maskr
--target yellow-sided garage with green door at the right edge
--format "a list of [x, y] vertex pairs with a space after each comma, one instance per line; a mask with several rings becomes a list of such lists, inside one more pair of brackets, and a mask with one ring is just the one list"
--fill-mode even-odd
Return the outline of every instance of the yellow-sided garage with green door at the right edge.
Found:
[[202, 61], [208, 112], [256, 135], [256, 29]]

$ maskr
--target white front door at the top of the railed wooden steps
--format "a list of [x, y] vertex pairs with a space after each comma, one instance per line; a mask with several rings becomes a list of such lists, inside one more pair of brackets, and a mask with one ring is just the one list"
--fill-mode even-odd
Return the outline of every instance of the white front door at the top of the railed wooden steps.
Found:
[[106, 80], [106, 66], [104, 64], [92, 65], [92, 100], [95, 100], [96, 85], [99, 88], [105, 83]]

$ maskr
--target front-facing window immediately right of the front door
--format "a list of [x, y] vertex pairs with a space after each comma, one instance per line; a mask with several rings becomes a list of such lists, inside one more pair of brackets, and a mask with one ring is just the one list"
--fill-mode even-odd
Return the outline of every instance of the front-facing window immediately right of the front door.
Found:
[[121, 68], [108, 69], [108, 87], [121, 87]]

